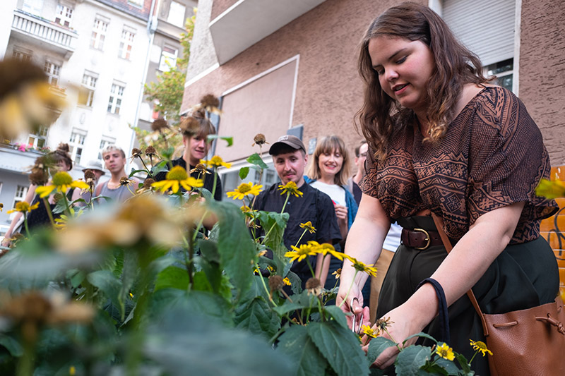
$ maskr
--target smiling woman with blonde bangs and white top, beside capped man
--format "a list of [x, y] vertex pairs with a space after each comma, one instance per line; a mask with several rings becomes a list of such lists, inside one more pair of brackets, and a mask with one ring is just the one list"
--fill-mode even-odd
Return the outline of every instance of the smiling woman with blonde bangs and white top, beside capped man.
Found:
[[[340, 245], [345, 243], [347, 232], [355, 220], [355, 214], [357, 214], [355, 198], [346, 188], [347, 176], [350, 175], [349, 171], [350, 157], [345, 148], [345, 142], [336, 135], [321, 138], [316, 145], [309, 165], [307, 183], [326, 193], [333, 201], [342, 238]], [[342, 262], [332, 256], [329, 273], [335, 272], [341, 265]], [[331, 287], [333, 287], [333, 281], [328, 281], [326, 289]], [[369, 298], [368, 285], [365, 293]]]

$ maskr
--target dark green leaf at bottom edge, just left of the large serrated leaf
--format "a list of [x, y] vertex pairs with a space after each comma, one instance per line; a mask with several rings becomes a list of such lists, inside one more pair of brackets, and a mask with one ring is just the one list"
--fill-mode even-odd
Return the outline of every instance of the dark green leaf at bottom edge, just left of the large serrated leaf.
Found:
[[328, 361], [321, 355], [313, 339], [308, 335], [307, 327], [294, 325], [286, 329], [279, 337], [278, 350], [283, 351], [292, 359], [295, 369], [289, 375], [325, 375]]

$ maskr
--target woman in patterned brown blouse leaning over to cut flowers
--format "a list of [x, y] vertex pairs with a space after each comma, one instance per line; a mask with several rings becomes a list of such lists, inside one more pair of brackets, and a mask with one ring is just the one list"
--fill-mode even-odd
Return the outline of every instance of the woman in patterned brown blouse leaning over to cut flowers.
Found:
[[[449, 345], [469, 359], [469, 339], [484, 341], [484, 334], [466, 291], [472, 288], [483, 313], [531, 308], [557, 296], [557, 262], [540, 237], [540, 220], [557, 205], [535, 195], [549, 176], [542, 135], [523, 103], [490, 84], [477, 56], [427, 6], [402, 3], [375, 18], [358, 69], [364, 103], [357, 121], [369, 151], [345, 253], [374, 264], [391, 222], [400, 224], [403, 243], [383, 281], [376, 317], [390, 317], [396, 341], [418, 332], [439, 338], [439, 284]], [[429, 212], [443, 219], [451, 253]], [[361, 293], [366, 279], [344, 263], [336, 303], [352, 284], [342, 309], [353, 317], [369, 317]], [[375, 365], [388, 368], [397, 353], [386, 349]], [[472, 368], [489, 375], [487, 358], [475, 358]]]

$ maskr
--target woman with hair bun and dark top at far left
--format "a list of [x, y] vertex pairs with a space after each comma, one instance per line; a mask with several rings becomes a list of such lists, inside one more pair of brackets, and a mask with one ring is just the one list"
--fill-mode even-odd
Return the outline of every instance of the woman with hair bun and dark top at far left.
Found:
[[[71, 169], [73, 169], [73, 159], [71, 159], [71, 156], [69, 155], [68, 144], [64, 144], [64, 143], [59, 144], [57, 150], [54, 150], [53, 152], [49, 152], [49, 154], [47, 154], [46, 157], [47, 157], [46, 159], [49, 160], [49, 164], [52, 164], [54, 166], [54, 169], [57, 170], [54, 172], [58, 172], [58, 171], [66, 172], [66, 171], [71, 171]], [[54, 174], [54, 172], [52, 174]], [[32, 176], [30, 176], [30, 178], [32, 178]], [[47, 180], [47, 178], [45, 178], [45, 180]], [[44, 181], [43, 183], [46, 182]], [[35, 188], [37, 188], [37, 184], [40, 183], [36, 181], [32, 181], [32, 183], [30, 183], [30, 187], [28, 188], [28, 193], [25, 195], [25, 199], [24, 199], [24, 201], [28, 202], [28, 204], [30, 204], [31, 206], [35, 205], [36, 203], [39, 204], [37, 209], [32, 210], [28, 214], [27, 221], [28, 221], [28, 229], [30, 230], [35, 229], [37, 226], [49, 224], [50, 221], [44, 200], [40, 199], [39, 195], [35, 194]], [[73, 189], [74, 188], [71, 188], [69, 189], [69, 192], [67, 192], [67, 197], [69, 198], [69, 200], [73, 195]], [[48, 202], [49, 205], [51, 206], [51, 210], [53, 210], [55, 207], [54, 195], [49, 197]], [[16, 224], [21, 223], [20, 221], [22, 215], [23, 214], [21, 212], [16, 212], [16, 215], [13, 217], [10, 227], [8, 228], [8, 231], [6, 231], [6, 234], [4, 235], [4, 240], [2, 241], [3, 246], [7, 247], [11, 244], [10, 238], [13, 236], [13, 231], [14, 228], [16, 227]], [[53, 214], [54, 219], [59, 217], [60, 214]]]

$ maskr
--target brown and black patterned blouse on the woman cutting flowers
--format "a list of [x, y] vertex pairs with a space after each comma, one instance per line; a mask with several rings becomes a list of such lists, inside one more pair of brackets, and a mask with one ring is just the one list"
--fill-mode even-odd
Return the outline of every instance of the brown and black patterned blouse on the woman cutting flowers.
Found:
[[540, 220], [557, 212], [554, 200], [535, 195], [549, 176], [542, 134], [523, 103], [502, 87], [486, 87], [432, 145], [417, 127], [392, 136], [388, 156], [367, 153], [364, 193], [378, 198], [391, 219], [428, 208], [444, 219], [450, 238], [460, 239], [482, 214], [525, 202], [513, 243], [540, 235]]

